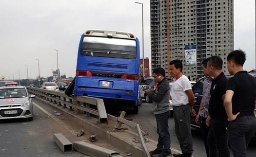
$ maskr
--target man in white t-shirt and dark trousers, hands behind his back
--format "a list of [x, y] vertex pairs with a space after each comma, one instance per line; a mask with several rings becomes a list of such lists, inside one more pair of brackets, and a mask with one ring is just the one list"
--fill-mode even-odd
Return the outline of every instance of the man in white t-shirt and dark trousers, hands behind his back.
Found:
[[172, 77], [176, 79], [172, 86], [173, 114], [175, 133], [182, 154], [173, 154], [174, 157], [191, 157], [193, 153], [193, 141], [190, 128], [191, 116], [197, 116], [193, 109], [195, 96], [187, 76], [182, 74], [182, 62], [173, 60], [169, 64]]

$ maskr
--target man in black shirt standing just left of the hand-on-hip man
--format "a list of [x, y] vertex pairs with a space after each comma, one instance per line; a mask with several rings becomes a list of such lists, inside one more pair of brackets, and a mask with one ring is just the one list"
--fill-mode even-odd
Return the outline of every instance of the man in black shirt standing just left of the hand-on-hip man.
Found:
[[222, 72], [223, 61], [219, 56], [211, 56], [207, 70], [212, 76], [209, 116], [206, 125], [210, 127], [207, 137], [210, 157], [230, 157], [227, 138], [227, 114], [223, 106], [226, 93], [227, 78]]

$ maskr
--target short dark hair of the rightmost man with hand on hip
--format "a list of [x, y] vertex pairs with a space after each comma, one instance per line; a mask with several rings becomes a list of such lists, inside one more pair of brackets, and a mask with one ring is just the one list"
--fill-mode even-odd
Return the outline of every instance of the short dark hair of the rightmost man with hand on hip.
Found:
[[236, 65], [243, 66], [246, 60], [246, 54], [241, 49], [232, 51], [228, 54], [227, 61], [233, 61]]

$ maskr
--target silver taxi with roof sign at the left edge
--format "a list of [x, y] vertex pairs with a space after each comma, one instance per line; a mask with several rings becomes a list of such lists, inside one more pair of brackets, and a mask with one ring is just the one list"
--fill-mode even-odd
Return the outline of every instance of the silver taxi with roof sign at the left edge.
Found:
[[17, 82], [6, 83], [5, 85], [0, 87], [0, 120], [25, 118], [32, 121], [33, 106], [31, 98], [36, 96], [30, 95], [26, 87], [17, 86]]

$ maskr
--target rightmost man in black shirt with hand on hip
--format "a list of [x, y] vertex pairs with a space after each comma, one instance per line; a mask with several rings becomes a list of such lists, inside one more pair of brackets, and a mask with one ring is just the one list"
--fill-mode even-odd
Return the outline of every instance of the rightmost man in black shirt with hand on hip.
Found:
[[246, 157], [247, 145], [255, 134], [256, 79], [243, 70], [245, 52], [236, 50], [227, 57], [227, 68], [234, 77], [227, 84], [225, 109], [229, 121], [228, 141], [234, 157]]

